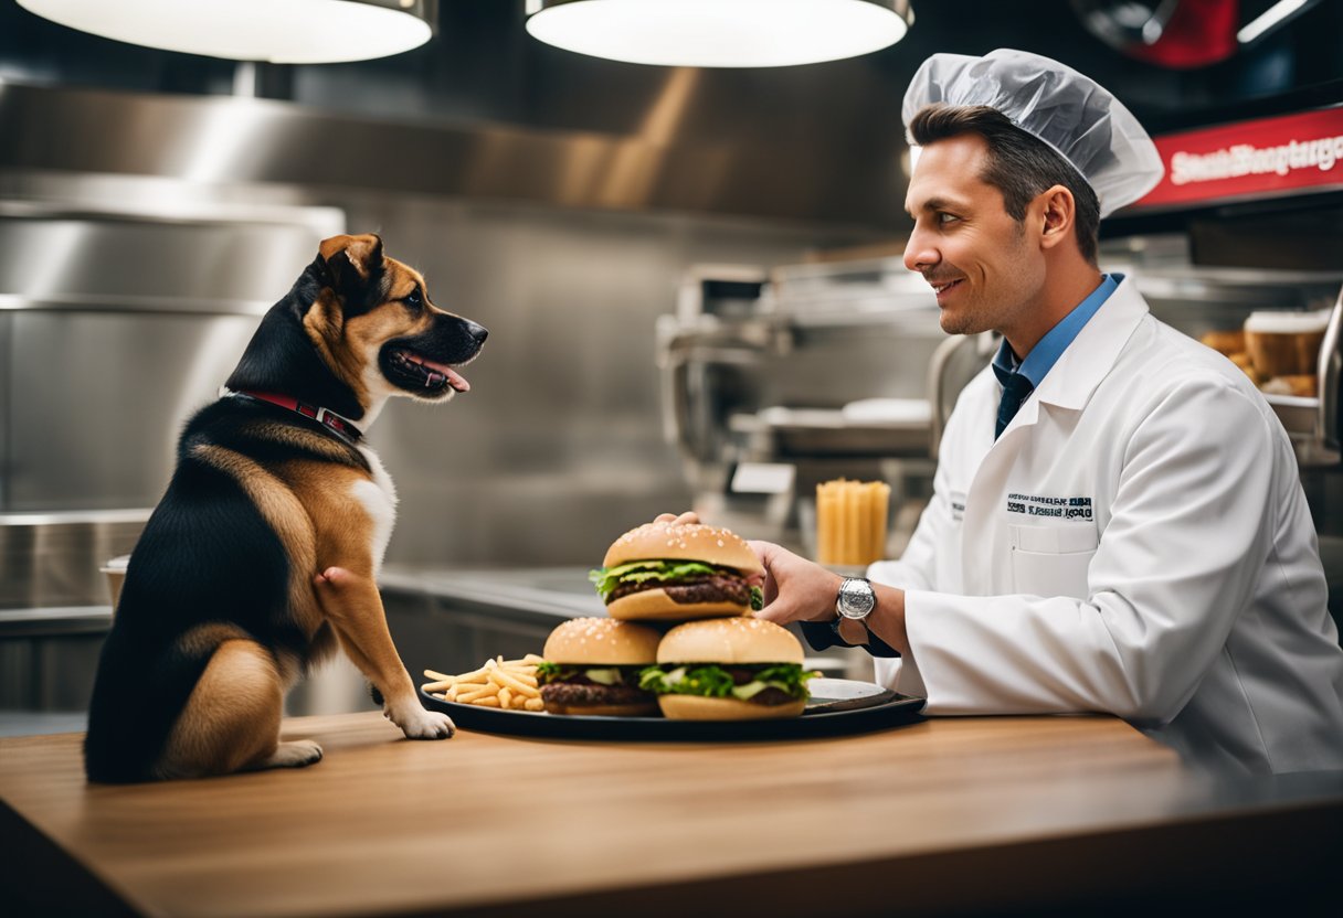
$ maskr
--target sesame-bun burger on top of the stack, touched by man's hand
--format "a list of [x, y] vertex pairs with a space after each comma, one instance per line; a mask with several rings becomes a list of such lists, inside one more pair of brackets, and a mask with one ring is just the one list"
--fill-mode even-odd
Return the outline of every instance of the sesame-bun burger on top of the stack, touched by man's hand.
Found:
[[612, 619], [706, 619], [760, 608], [755, 552], [727, 529], [645, 523], [606, 553], [588, 576]]

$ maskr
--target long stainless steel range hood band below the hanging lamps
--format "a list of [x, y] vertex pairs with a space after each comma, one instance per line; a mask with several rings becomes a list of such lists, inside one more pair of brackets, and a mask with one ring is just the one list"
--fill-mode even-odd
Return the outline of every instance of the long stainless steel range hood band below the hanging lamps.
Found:
[[267, 99], [0, 82], [0, 170], [907, 225], [894, 152], [825, 149], [375, 121]]

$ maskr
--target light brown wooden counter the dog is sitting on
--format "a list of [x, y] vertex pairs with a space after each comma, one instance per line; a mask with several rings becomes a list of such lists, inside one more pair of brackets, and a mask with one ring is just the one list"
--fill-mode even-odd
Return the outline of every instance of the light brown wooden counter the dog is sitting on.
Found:
[[1105, 717], [740, 745], [411, 742], [376, 713], [285, 734], [326, 758], [133, 786], [87, 785], [81, 734], [0, 741], [4, 901], [230, 917], [1062, 909], [1292, 884], [1343, 842], [1338, 776], [1229, 790]]

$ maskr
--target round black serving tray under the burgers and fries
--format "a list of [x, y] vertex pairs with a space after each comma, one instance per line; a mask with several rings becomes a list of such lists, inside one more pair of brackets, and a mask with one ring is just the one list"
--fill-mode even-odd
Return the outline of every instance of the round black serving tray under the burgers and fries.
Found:
[[[830, 683], [843, 680], [831, 679]], [[900, 695], [872, 686], [861, 699], [814, 697], [800, 717], [778, 721], [669, 721], [662, 717], [584, 717], [532, 711], [501, 711], [497, 707], [459, 705], [420, 691], [431, 711], [443, 711], [457, 726], [482, 733], [555, 740], [611, 741], [713, 741], [808, 740], [885, 730], [923, 719], [923, 698]]]

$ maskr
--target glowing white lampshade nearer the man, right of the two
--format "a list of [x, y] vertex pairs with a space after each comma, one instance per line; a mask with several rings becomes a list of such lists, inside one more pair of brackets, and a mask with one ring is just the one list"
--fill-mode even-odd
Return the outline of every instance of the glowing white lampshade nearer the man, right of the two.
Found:
[[526, 31], [569, 51], [680, 67], [786, 67], [868, 54], [909, 0], [526, 0]]

